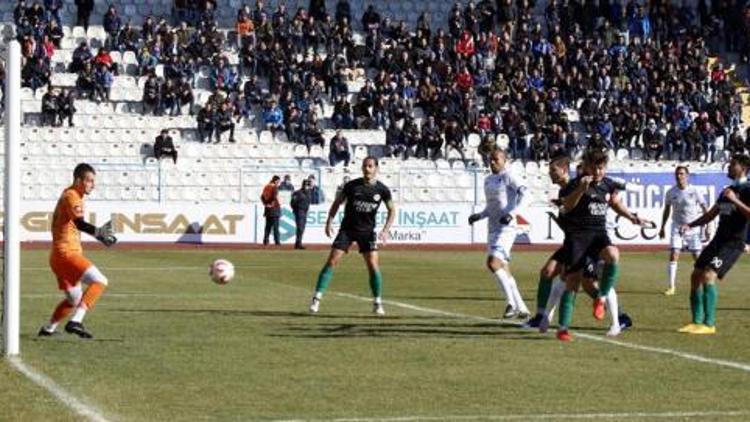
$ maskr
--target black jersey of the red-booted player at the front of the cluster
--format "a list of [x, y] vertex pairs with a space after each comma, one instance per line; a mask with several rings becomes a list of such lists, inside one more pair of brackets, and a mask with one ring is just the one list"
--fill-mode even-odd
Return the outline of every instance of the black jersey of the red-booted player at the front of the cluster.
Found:
[[[560, 190], [560, 198], [570, 195], [580, 183], [580, 176], [571, 180]], [[623, 188], [621, 182], [604, 177], [591, 185], [572, 210], [565, 210], [567, 232], [607, 231], [607, 209], [609, 199]]]

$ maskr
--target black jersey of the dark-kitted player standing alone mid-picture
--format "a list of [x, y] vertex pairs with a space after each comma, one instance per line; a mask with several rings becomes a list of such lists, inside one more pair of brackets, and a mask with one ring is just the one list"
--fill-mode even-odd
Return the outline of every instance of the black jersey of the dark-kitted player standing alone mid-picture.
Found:
[[346, 200], [341, 230], [365, 233], [375, 230], [375, 221], [381, 202], [391, 200], [391, 191], [379, 181], [367, 183], [360, 177], [344, 185], [341, 194]]

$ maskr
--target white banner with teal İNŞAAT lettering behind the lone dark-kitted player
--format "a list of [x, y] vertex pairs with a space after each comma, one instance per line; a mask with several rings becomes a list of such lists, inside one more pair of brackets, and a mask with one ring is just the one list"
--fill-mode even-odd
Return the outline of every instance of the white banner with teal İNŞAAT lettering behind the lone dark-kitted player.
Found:
[[[313, 205], [307, 214], [304, 243], [331, 243], [325, 235], [325, 223], [330, 204]], [[397, 204], [396, 220], [391, 227], [389, 242], [392, 243], [456, 243], [472, 242], [471, 227], [467, 224], [471, 206], [465, 204]], [[339, 209], [333, 228], [337, 233], [344, 216], [344, 206]], [[377, 214], [377, 228], [383, 226], [387, 216], [385, 205]], [[265, 227], [262, 207], [258, 207], [256, 242], [263, 241]], [[284, 206], [281, 212], [279, 232], [282, 243], [294, 243], [296, 226], [291, 208]], [[334, 233], [334, 236], [335, 234]], [[271, 237], [273, 242], [273, 237]]]

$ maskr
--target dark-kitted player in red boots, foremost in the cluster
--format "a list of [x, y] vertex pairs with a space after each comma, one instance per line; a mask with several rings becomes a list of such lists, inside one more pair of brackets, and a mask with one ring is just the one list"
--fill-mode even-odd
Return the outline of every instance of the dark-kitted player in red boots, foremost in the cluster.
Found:
[[[563, 248], [566, 250], [566, 291], [560, 301], [560, 327], [557, 338], [570, 341], [568, 327], [573, 318], [575, 295], [585, 278], [585, 267], [593, 257], [604, 260], [604, 271], [599, 283], [598, 297], [594, 299], [594, 318], [604, 318], [605, 298], [611, 303], [610, 311], [617, 315], [617, 299], [612, 288], [620, 277], [620, 252], [607, 235], [607, 210], [612, 208], [633, 224], [646, 223], [628, 211], [618, 196], [622, 184], [605, 176], [607, 155], [592, 151], [584, 156], [584, 174], [579, 175], [560, 192], [562, 209], [566, 217]], [[608, 335], [617, 335], [620, 324], [613, 324]]]

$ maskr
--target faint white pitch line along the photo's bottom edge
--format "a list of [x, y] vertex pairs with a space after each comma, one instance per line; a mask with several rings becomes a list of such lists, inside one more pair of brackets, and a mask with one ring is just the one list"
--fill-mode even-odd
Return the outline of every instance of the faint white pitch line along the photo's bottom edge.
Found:
[[416, 422], [416, 421], [515, 421], [559, 419], [669, 419], [750, 415], [747, 411], [706, 412], [620, 412], [620, 413], [532, 413], [516, 415], [393, 416], [382, 418], [283, 419], [275, 422]]

